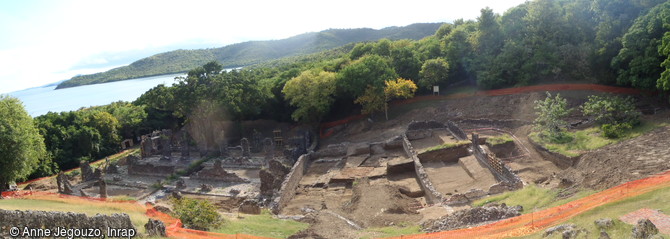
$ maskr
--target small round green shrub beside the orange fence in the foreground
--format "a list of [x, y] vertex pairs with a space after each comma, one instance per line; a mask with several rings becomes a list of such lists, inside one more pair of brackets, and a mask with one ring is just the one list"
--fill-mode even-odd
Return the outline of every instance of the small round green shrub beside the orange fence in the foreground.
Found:
[[223, 225], [223, 218], [209, 201], [183, 197], [172, 198], [172, 204], [175, 216], [188, 228], [209, 231]]

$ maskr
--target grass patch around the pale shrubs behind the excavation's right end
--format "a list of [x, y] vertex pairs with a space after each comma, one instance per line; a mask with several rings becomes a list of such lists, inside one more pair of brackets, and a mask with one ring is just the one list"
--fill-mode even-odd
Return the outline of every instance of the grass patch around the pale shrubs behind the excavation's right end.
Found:
[[632, 139], [646, 134], [655, 128], [666, 125], [667, 123], [642, 121], [640, 125], [628, 130], [623, 137], [617, 139], [604, 137], [600, 127], [594, 126], [583, 130], [566, 132], [566, 137], [570, 140], [567, 140], [568, 142], [566, 143], [560, 144], [549, 142], [547, 139], [540, 137], [537, 132], [533, 132], [528, 136], [533, 139], [533, 141], [547, 148], [549, 151], [560, 153], [569, 157], [575, 157], [581, 155], [585, 151], [598, 149], [609, 144]]

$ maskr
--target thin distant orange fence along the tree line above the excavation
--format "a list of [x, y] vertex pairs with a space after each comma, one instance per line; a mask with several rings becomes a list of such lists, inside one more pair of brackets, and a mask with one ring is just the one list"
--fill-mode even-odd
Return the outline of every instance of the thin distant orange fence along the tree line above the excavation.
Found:
[[[447, 96], [422, 95], [410, 99], [392, 101], [390, 105], [404, 105], [427, 100], [460, 99], [473, 96], [500, 96], [500, 95], [513, 95], [513, 94], [521, 94], [521, 93], [537, 92], [537, 91], [566, 91], [566, 90], [592, 90], [592, 91], [600, 91], [615, 94], [640, 94], [643, 92], [649, 94], [654, 93], [651, 91], [642, 91], [633, 88], [606, 86], [597, 84], [549, 84], [549, 85], [534, 85], [534, 86], [505, 88], [497, 90], [476, 91], [473, 93], [457, 93]], [[347, 124], [351, 121], [362, 119], [365, 116], [367, 115], [366, 114], [352, 115], [341, 120], [322, 123], [320, 125], [319, 135], [321, 138], [327, 138], [331, 136], [333, 133], [335, 133], [335, 131], [332, 129], [333, 127]]]

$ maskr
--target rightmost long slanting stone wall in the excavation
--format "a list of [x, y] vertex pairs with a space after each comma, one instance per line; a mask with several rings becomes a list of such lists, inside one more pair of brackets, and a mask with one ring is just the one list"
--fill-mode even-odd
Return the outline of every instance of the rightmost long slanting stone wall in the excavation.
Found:
[[477, 158], [477, 161], [488, 168], [498, 181], [505, 182], [509, 185], [515, 185], [518, 188], [523, 187], [523, 183], [519, 176], [512, 173], [512, 170], [510, 170], [500, 159], [495, 157], [495, 155], [486, 152], [479, 145], [479, 136], [477, 134], [472, 134], [471, 145], [472, 152], [475, 155], [475, 158]]

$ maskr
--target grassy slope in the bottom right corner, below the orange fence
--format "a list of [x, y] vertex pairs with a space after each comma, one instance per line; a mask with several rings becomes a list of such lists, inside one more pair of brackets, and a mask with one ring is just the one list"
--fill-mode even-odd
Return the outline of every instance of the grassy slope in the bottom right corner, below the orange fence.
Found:
[[[597, 238], [600, 230], [596, 228], [593, 222], [600, 218], [612, 218], [614, 219], [614, 227], [607, 230], [610, 238], [630, 238], [633, 225], [626, 224], [618, 218], [642, 208], [661, 210], [664, 214], [668, 215], [670, 214], [670, 203], [667, 201], [668, 198], [670, 198], [670, 187], [658, 189], [619, 202], [602, 205], [573, 217], [564, 223], [574, 223], [578, 227], [586, 229], [588, 231], [586, 238]], [[543, 238], [542, 233], [543, 232], [540, 232], [521, 238]], [[660, 235], [664, 238], [670, 237], [668, 234], [661, 233]], [[580, 238], [582, 238], [582, 236], [583, 235], [580, 234]], [[554, 235], [548, 238], [561, 238], [561, 236]]]

